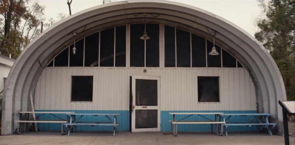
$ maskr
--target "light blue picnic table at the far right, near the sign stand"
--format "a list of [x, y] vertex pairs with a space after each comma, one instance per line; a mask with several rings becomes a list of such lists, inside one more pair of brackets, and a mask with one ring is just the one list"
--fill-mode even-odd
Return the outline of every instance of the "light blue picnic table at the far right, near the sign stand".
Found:
[[[271, 114], [268, 113], [226, 113], [219, 115], [219, 121], [225, 122], [224, 126], [224, 133], [227, 136], [227, 127], [228, 126], [258, 126], [257, 132], [259, 132], [260, 128], [267, 128], [268, 134], [271, 136], [271, 129], [274, 128], [276, 123], [269, 123], [268, 117]], [[225, 116], [228, 116], [227, 118]], [[257, 119], [257, 122], [228, 122], [227, 120], [230, 119], [232, 116], [253, 116]]]

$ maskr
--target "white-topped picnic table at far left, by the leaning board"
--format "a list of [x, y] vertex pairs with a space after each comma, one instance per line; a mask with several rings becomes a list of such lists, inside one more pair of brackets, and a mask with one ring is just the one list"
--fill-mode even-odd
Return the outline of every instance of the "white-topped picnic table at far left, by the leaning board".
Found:
[[[54, 114], [67, 114], [67, 113], [75, 113], [75, 112], [53, 112], [53, 111], [20, 111], [19, 112], [20, 114], [24, 113], [25, 114], [25, 118], [24, 120], [22, 120], [22, 116], [20, 116], [20, 120], [16, 120], [15, 122], [17, 122], [17, 134], [24, 134], [24, 133], [28, 133], [28, 132], [32, 132], [32, 131], [35, 131], [35, 128], [34, 130], [32, 131], [29, 131], [29, 128], [27, 126], [27, 123], [61, 123], [61, 134], [63, 135], [63, 123], [68, 123], [67, 120], [63, 119], [63, 118], [60, 118]], [[39, 116], [36, 116], [35, 118], [33, 119], [29, 119], [29, 115], [30, 114], [41, 114]], [[36, 119], [36, 118], [39, 118], [40, 116], [43, 116], [45, 114], [49, 114], [49, 115], [52, 115], [52, 116], [55, 116], [56, 118], [58, 118], [58, 120], [56, 119]], [[25, 128], [26, 130], [24, 132], [20, 132], [19, 131], [19, 124], [20, 123], [26, 123], [25, 124]]]

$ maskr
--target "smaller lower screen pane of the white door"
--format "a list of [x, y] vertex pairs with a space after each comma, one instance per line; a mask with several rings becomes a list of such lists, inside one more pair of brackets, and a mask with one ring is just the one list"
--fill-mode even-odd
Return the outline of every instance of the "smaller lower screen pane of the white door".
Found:
[[158, 110], [136, 110], [135, 128], [158, 128]]

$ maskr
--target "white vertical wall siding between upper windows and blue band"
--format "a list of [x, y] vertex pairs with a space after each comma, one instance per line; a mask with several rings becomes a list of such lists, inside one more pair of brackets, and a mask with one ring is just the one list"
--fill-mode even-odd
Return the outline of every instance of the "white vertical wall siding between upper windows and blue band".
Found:
[[[147, 73], [143, 72], [147, 69]], [[93, 102], [71, 102], [71, 76], [93, 75]], [[45, 68], [35, 93], [36, 110], [129, 110], [130, 76], [160, 76], [161, 111], [256, 110], [244, 68]], [[219, 76], [220, 103], [198, 103], [197, 76]]]

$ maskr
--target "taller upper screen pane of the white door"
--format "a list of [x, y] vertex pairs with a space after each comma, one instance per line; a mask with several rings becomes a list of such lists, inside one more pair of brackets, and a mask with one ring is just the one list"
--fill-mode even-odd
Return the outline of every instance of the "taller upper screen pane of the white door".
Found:
[[135, 105], [157, 106], [158, 105], [158, 81], [135, 80]]

